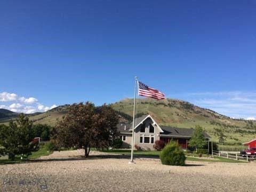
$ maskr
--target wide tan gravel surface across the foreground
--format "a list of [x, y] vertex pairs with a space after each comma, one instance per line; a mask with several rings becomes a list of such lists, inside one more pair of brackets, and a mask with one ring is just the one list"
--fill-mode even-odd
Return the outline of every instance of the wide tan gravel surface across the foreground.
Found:
[[[0, 165], [0, 191], [255, 191], [256, 163], [186, 162], [60, 151], [37, 162]], [[106, 158], [108, 157], [108, 158]], [[110, 158], [111, 157], [111, 158]]]

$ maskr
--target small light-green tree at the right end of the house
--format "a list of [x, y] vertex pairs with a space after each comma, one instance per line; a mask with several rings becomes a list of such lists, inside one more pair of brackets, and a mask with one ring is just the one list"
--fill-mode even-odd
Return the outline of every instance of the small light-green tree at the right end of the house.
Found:
[[203, 127], [196, 125], [194, 133], [189, 140], [189, 146], [195, 147], [196, 152], [198, 148], [202, 148], [205, 145], [205, 138], [203, 135]]

